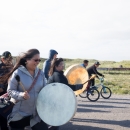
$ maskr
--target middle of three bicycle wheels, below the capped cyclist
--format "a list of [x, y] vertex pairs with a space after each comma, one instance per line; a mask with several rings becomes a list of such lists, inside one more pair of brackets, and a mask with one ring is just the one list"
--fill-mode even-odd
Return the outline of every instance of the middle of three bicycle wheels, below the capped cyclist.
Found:
[[87, 91], [87, 98], [91, 101], [91, 102], [95, 102], [99, 99], [100, 97], [100, 93], [96, 88], [90, 88]]

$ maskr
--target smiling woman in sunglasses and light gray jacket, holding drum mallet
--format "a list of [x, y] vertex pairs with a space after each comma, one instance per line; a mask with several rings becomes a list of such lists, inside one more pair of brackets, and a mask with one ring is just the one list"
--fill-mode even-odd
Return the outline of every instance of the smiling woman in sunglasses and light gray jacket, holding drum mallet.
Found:
[[[38, 75], [37, 65], [40, 61], [39, 51], [30, 49], [19, 57], [10, 73], [0, 78], [0, 82], [3, 83], [8, 80], [7, 92], [11, 97], [11, 101], [15, 102], [11, 114], [8, 116], [11, 130], [24, 130], [25, 126], [31, 126], [32, 130], [48, 130], [47, 125], [41, 121], [36, 110], [38, 93], [45, 86], [43, 72]], [[16, 75], [20, 77], [25, 92], [16, 80]], [[27, 92], [37, 75], [38, 78], [34, 87]]]

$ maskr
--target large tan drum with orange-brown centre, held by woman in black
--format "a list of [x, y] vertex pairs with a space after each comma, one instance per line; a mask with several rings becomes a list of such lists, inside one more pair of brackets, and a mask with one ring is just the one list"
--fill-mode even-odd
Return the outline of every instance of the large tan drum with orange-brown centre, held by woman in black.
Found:
[[[72, 65], [66, 69], [64, 75], [68, 79], [69, 84], [83, 84], [87, 80], [89, 80], [87, 70], [81, 65]], [[82, 89], [75, 91], [75, 95], [81, 94], [87, 86], [88, 82], [86, 82]]]

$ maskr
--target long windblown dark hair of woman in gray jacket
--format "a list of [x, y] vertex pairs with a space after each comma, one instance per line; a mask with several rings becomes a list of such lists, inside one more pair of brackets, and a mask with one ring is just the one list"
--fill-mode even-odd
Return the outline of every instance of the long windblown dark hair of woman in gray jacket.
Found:
[[0, 77], [0, 83], [6, 84], [12, 73], [21, 65], [26, 67], [26, 61], [31, 59], [36, 54], [40, 54], [40, 52], [37, 49], [30, 49], [25, 53], [21, 53], [21, 55], [17, 58], [17, 62], [13, 69], [9, 73]]

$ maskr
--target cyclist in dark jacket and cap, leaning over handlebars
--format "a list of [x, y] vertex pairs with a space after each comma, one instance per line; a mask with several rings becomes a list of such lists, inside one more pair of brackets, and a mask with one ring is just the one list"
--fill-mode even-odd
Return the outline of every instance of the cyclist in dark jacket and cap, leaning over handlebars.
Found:
[[[101, 74], [101, 73], [99, 73], [99, 72], [97, 71], [97, 68], [99, 67], [99, 65], [101, 65], [101, 64], [100, 64], [98, 61], [96, 61], [96, 62], [94, 63], [94, 65], [90, 66], [90, 67], [87, 69], [89, 77], [91, 77], [92, 74], [96, 74], [97, 76], [98, 76], [98, 75], [104, 76], [103, 74]], [[91, 86], [94, 86], [94, 85], [95, 85], [95, 79], [92, 79], [92, 80], [91, 80]]]

